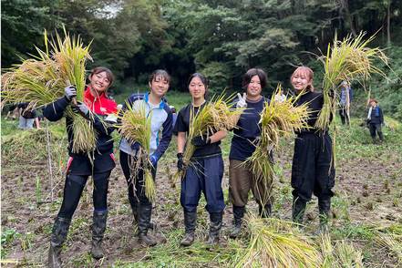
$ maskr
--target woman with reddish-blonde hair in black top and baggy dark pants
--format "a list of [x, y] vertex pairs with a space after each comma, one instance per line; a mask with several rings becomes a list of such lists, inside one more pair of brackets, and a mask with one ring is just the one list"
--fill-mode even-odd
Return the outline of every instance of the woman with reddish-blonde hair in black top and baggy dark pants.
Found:
[[294, 191], [292, 218], [302, 223], [307, 201], [312, 194], [318, 198], [320, 229], [326, 229], [331, 208], [332, 188], [335, 185], [335, 168], [332, 159], [332, 139], [328, 130], [314, 127], [318, 114], [323, 108], [322, 93], [314, 92], [313, 70], [297, 67], [291, 77], [295, 94], [299, 96], [296, 106], [307, 104], [311, 113], [307, 119], [309, 129], [296, 133], [294, 140], [294, 160], [292, 165], [292, 187]]

